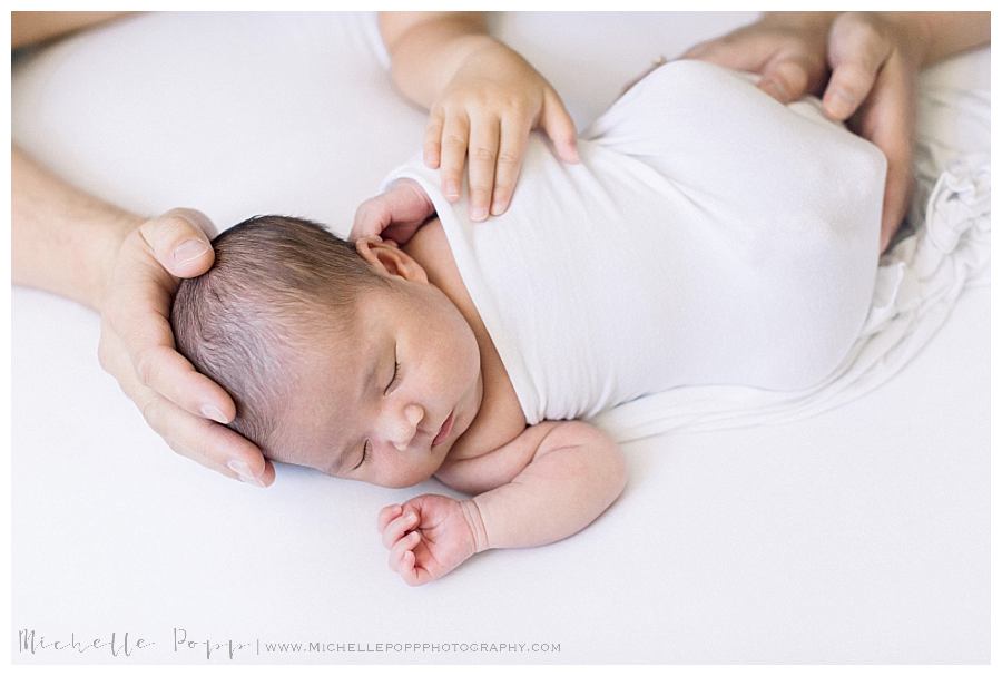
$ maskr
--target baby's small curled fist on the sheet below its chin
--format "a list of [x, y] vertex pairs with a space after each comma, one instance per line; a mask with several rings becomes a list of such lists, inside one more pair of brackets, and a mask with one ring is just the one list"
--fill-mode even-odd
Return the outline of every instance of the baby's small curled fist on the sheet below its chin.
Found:
[[436, 580], [477, 552], [459, 500], [426, 493], [380, 510], [379, 529], [390, 569], [411, 586]]

